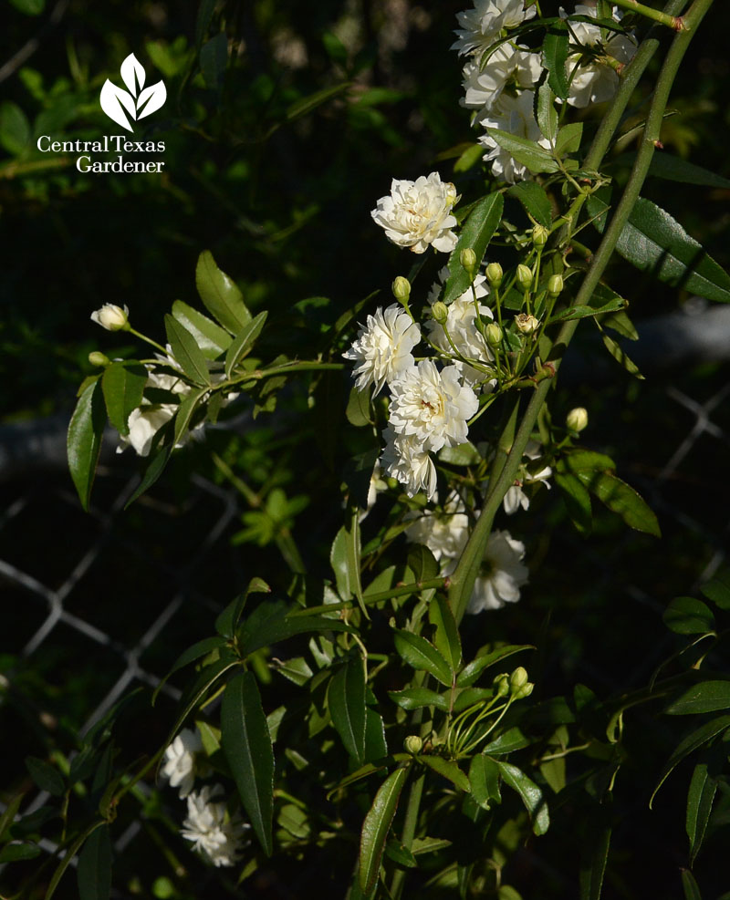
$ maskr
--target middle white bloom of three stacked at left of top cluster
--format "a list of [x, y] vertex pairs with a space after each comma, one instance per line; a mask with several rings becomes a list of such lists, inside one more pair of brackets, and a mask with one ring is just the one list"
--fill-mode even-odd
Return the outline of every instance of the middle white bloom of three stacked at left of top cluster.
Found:
[[475, 59], [464, 66], [462, 106], [481, 109], [484, 114], [494, 107], [507, 85], [533, 88], [542, 68], [539, 54], [529, 52], [527, 47], [503, 44], [489, 57], [484, 69]]

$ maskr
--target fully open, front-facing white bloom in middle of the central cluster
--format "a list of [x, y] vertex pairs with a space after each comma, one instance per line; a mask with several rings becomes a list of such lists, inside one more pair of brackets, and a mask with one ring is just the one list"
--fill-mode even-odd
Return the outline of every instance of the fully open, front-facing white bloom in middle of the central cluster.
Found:
[[439, 371], [433, 360], [422, 359], [393, 381], [390, 425], [396, 434], [414, 438], [423, 452], [463, 444], [479, 400], [460, 375], [455, 366]]

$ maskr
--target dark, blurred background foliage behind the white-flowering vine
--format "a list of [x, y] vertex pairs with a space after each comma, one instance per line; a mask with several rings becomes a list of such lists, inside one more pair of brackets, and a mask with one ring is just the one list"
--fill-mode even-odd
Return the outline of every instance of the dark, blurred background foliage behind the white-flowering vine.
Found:
[[[412, 179], [435, 169], [454, 178], [464, 200], [482, 190], [478, 167], [454, 173], [454, 160], [474, 141], [458, 104], [460, 62], [449, 51], [462, 2], [2, 2], [5, 424], [68, 415], [79, 376], [90, 371], [89, 351], [118, 346], [116, 337], [89, 322], [90, 312], [103, 303], [129, 305], [135, 325], [161, 337], [162, 315], [172, 301], [195, 303], [194, 266], [203, 248], [235, 278], [254, 311], [272, 311], [277, 324], [269, 334], [280, 336], [289, 352], [298, 344], [304, 353], [321, 323], [378, 288], [381, 297], [362, 315], [388, 303], [392, 278], [407, 274], [412, 260], [370, 222], [370, 210], [388, 192], [391, 177]], [[543, 4], [547, 14], [557, 7]], [[673, 94], [674, 114], [662, 131], [665, 152], [725, 178], [728, 25], [730, 11], [718, 2], [691, 47]], [[162, 175], [80, 173], [76, 154], [36, 150], [41, 134], [97, 140], [119, 133], [99, 108], [99, 90], [106, 78], [119, 83], [120, 63], [132, 52], [147, 69], [148, 83], [159, 72], [167, 86], [167, 103], [135, 134], [137, 140], [164, 140]], [[653, 67], [641, 87], [643, 98], [655, 72]], [[627, 129], [641, 122], [641, 96]], [[616, 149], [610, 171], [618, 181], [632, 140]], [[650, 180], [644, 192], [730, 266], [730, 191]], [[417, 283], [422, 296], [437, 267], [430, 261]], [[640, 325], [688, 299], [626, 264], [614, 270], [609, 280], [629, 298]], [[309, 297], [328, 300], [300, 304]], [[267, 350], [276, 356], [271, 338]], [[583, 352], [590, 357], [597, 351], [588, 341]], [[667, 400], [666, 388], [681, 389], [702, 404], [722, 390], [727, 370], [715, 362], [667, 370], [659, 360], [648, 374], [647, 382], [637, 383], [615, 367], [608, 381], [597, 384], [569, 378], [567, 368], [567, 387], [553, 405], [556, 419], [573, 406], [586, 406], [586, 445], [609, 452], [620, 474], [651, 501], [658, 496], [652, 489], [656, 477], [694, 422]], [[233, 432], [211, 432], [173, 461], [151, 500], [110, 521], [104, 516], [133, 460], [107, 462], [93, 521], [69, 512], [65, 473], [31, 460], [29, 474], [5, 477], [0, 485], [0, 507], [26, 503], [23, 517], [2, 532], [1, 555], [55, 587], [67, 577], [68, 561], [103, 533], [103, 553], [79, 584], [71, 608], [128, 647], [144, 630], [150, 605], [162, 608], [162, 598], [184, 582], [194, 602], [142, 657], [143, 665], [160, 674], [182, 647], [208, 633], [215, 605], [229, 600], [252, 574], [272, 583], [278, 577], [286, 586], [281, 560], [292, 535], [314, 574], [327, 572], [328, 543], [341, 517], [342, 466], [352, 452], [368, 449], [361, 431], [338, 424], [332, 434], [332, 423], [343, 421], [348, 389], [347, 376], [324, 378], [312, 415], [301, 415], [308, 396], [295, 389], [280, 401], [276, 417], [262, 414], [253, 428], [245, 419], [245, 427]], [[546, 491], [529, 516], [509, 522], [527, 543], [535, 586], [516, 607], [480, 619], [469, 636], [474, 647], [487, 639], [539, 644], [541, 675], [535, 675], [544, 679], [544, 696], [577, 680], [601, 696], [644, 684], [657, 654], [666, 655], [671, 644], [661, 623], [663, 606], [673, 595], [690, 593], [727, 543], [726, 403], [713, 421], [720, 437], [699, 441], [671, 480], [662, 482], [662, 542], [627, 535], [608, 516], [588, 540], [579, 539]], [[217, 515], [208, 509], [210, 498], [196, 493], [193, 473], [230, 491], [235, 478], [245, 481], [243, 489], [238, 485], [245, 512], [216, 537], [204, 571], [188, 577], [185, 562]], [[73, 749], [75, 730], [118, 670], [100, 648], [87, 654], [70, 629], [57, 629], [48, 652], [21, 658], [19, 650], [37, 626], [35, 607], [26, 604], [22, 589], [3, 587], [15, 612], [4, 629], [0, 661], [2, 671], [13, 674], [16, 693], [0, 707], [2, 733], [18, 736], [9, 750], [7, 784], [0, 788], [5, 801], [28, 787], [22, 766], [27, 753], [53, 760]], [[164, 740], [171, 713], [165, 706], [152, 711], [146, 695], [132, 709], [135, 727], [122, 741], [126, 760], [149, 750], [151, 736]], [[632, 721], [635, 755], [624, 770], [630, 774], [617, 785], [605, 896], [679, 897], [686, 778], [667, 786], [659, 814], [647, 811], [649, 784], [673, 745], [648, 714]], [[176, 852], [185, 853], [181, 864], [160, 838], [158, 828], [170, 816], [159, 795], [142, 797], [140, 804], [149, 840], [138, 840], [135, 853], [120, 863], [120, 885], [130, 895], [204, 896], [210, 873], [178, 846]], [[547, 838], [513, 857], [510, 884], [526, 897], [577, 895], [570, 874], [575, 823], [569, 807], [562, 814]], [[725, 807], [718, 818], [723, 815]], [[181, 865], [183, 873], [188, 870], [184, 877], [175, 874]], [[708, 896], [730, 888], [720, 841], [711, 837], [698, 866], [710, 884]], [[305, 896], [317, 884], [321, 896], [340, 895], [332, 884], [320, 884], [320, 873], [308, 872], [306, 863], [297, 873], [299, 881], [292, 873], [265, 871], [248, 890], [252, 896]], [[299, 885], [294, 893], [292, 884]], [[58, 896], [74, 896], [74, 889], [71, 880], [68, 893]]]

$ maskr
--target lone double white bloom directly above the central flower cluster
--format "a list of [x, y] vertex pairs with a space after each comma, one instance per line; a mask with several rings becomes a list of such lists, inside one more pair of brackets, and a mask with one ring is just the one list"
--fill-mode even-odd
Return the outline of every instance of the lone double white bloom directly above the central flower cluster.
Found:
[[424, 253], [433, 245], [434, 250], [451, 253], [456, 246], [451, 230], [456, 218], [451, 211], [457, 200], [454, 185], [442, 181], [438, 172], [415, 181], [394, 178], [391, 195], [381, 197], [370, 215], [385, 229], [388, 240], [399, 247]]

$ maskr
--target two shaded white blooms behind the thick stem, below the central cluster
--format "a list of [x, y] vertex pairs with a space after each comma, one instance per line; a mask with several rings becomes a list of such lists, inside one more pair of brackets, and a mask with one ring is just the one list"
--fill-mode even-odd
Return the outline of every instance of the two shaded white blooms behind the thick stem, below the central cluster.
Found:
[[[443, 512], [420, 516], [406, 533], [413, 543], [429, 548], [440, 561], [443, 574], [452, 574], [469, 538], [464, 502], [454, 491], [444, 503]], [[509, 532], [491, 533], [466, 612], [481, 613], [516, 603], [529, 574], [522, 562], [524, 556], [525, 544], [516, 541]]]

